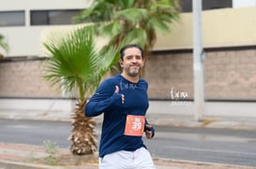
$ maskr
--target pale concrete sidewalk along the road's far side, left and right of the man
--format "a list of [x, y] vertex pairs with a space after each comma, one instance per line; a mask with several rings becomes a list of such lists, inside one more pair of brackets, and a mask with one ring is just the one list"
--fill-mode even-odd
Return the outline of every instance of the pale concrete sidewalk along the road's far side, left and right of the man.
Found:
[[[256, 129], [256, 103], [210, 102], [205, 103], [203, 121], [194, 120], [193, 103], [174, 103], [151, 101], [147, 111], [147, 120], [152, 125], [183, 127], [229, 128], [239, 130]], [[71, 121], [71, 112], [3, 109], [0, 107], [0, 119], [11, 120], [59, 120]], [[94, 118], [102, 122], [102, 115]]]

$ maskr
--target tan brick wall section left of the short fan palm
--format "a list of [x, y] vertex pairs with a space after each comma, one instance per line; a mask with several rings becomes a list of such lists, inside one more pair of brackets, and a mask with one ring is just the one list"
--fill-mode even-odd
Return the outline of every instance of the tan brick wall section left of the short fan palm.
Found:
[[43, 80], [43, 60], [0, 61], [0, 96], [59, 97]]

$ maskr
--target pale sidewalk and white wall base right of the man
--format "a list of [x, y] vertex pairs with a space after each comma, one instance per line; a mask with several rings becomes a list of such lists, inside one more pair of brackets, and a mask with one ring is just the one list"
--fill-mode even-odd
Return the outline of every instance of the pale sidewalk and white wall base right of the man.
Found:
[[150, 102], [148, 120], [155, 125], [256, 129], [256, 102], [205, 102], [203, 121], [195, 120], [192, 102]]

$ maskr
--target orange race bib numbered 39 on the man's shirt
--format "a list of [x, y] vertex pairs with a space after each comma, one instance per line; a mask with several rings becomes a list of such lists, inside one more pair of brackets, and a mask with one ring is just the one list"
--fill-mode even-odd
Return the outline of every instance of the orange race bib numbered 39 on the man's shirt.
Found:
[[142, 136], [144, 131], [144, 116], [128, 115], [125, 134], [130, 136]]

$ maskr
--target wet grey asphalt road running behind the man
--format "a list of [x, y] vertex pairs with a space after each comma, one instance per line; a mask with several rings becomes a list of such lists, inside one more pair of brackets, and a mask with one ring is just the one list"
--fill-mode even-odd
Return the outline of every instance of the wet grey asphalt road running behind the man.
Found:
[[[0, 120], [0, 142], [43, 146], [50, 140], [68, 148], [68, 122]], [[156, 136], [144, 143], [154, 157], [256, 166], [256, 131], [155, 126]], [[96, 127], [100, 134], [100, 125]]]

